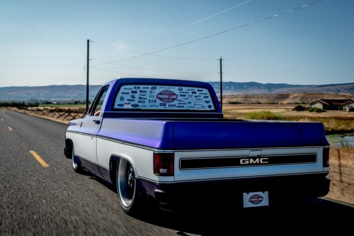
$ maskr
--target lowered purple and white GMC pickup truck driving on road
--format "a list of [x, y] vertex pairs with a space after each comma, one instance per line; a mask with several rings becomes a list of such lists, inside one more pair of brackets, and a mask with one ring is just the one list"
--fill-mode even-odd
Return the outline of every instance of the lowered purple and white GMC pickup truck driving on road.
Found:
[[330, 184], [322, 123], [226, 119], [211, 85], [196, 81], [104, 84], [68, 123], [64, 153], [75, 172], [116, 186], [126, 213], [150, 200], [164, 210], [205, 199], [272, 206], [325, 196]]

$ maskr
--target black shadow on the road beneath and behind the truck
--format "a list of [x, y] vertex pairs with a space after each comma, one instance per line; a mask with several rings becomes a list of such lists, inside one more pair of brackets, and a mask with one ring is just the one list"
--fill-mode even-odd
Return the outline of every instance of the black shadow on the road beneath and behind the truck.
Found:
[[[151, 211], [134, 218], [177, 231], [177, 235], [248, 235], [254, 233], [351, 232], [354, 206], [326, 199], [291, 202], [281, 207], [235, 209], [179, 209]], [[338, 221], [340, 224], [336, 225]], [[336, 226], [333, 228], [333, 226]], [[349, 231], [350, 230], [350, 231]], [[243, 232], [243, 233], [241, 233]]]

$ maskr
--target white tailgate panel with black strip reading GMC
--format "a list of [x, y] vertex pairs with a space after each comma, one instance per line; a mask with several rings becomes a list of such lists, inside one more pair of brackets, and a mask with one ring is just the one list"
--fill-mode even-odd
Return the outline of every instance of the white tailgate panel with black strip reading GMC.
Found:
[[175, 181], [323, 173], [322, 147], [177, 151]]

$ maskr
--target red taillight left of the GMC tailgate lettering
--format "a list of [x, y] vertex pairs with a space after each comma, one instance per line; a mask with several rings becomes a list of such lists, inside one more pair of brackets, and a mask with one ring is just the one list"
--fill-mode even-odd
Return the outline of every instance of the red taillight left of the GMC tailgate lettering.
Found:
[[159, 176], [173, 176], [174, 175], [174, 153], [157, 153], [153, 155], [154, 158], [154, 175]]

